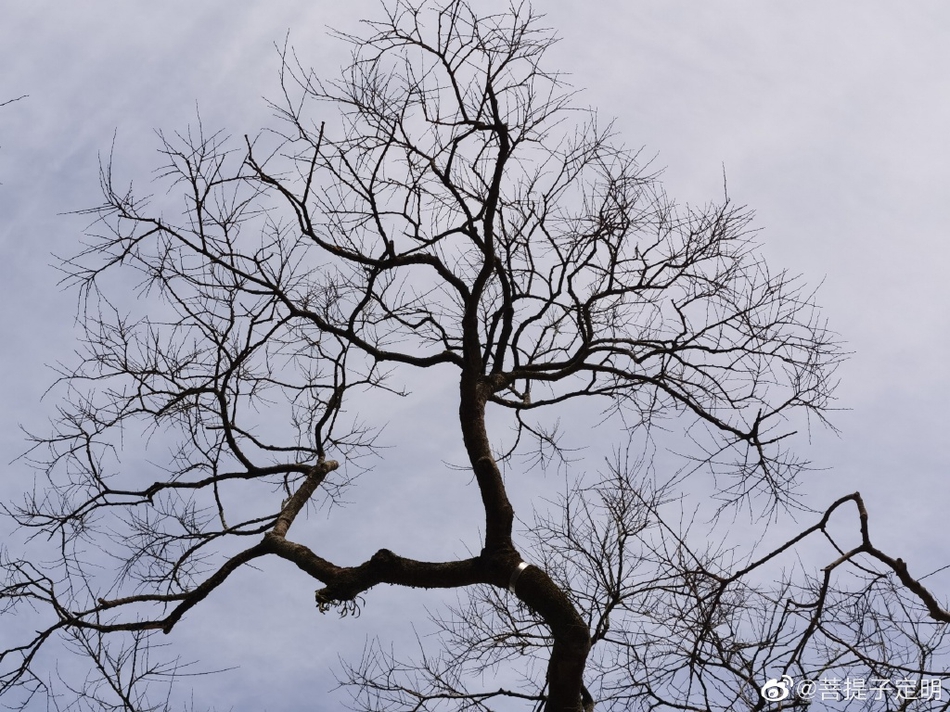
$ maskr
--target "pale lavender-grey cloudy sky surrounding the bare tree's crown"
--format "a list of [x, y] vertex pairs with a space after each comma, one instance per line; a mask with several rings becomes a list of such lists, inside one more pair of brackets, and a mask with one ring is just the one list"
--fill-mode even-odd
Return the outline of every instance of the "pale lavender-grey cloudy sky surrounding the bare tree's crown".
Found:
[[[732, 200], [757, 214], [770, 264], [821, 284], [818, 302], [853, 355], [839, 371], [840, 435], [816, 430], [802, 451], [825, 468], [803, 480], [807, 503], [860, 490], [878, 546], [914, 574], [950, 563], [950, 6], [536, 7], [561, 37], [547, 66], [570, 74], [579, 103], [615, 118], [628, 147], [656, 155], [671, 196], [718, 199], [725, 170]], [[355, 31], [378, 13], [366, 0], [5, 3], [0, 102], [29, 96], [0, 109], [0, 497], [32, 482], [21, 463], [7, 464], [24, 449], [18, 426], [42, 429], [54, 406], [40, 402], [52, 380], [44, 364], [74, 348], [74, 295], [57, 287], [50, 255], [73, 252], [87, 226], [64, 213], [100, 202], [98, 156], [114, 137], [118, 174], [144, 185], [159, 165], [154, 130], [183, 129], [196, 105], [206, 127], [256, 133], [271, 122], [262, 97], [278, 97], [275, 43], [289, 31], [301, 60], [332, 77], [348, 49], [326, 28]], [[371, 479], [369, 494], [354, 491], [357, 555], [396, 548], [394, 516], [409, 523], [397, 527], [399, 553], [436, 558], [434, 542], [459, 554], [460, 542], [477, 541], [445, 537], [475, 532], [480, 512], [461, 478], [454, 489], [442, 478], [432, 494], [455, 430], [425, 420], [426, 398], [438, 393], [415, 385], [418, 401], [385, 405], [387, 435], [410, 443], [386, 467], [432, 470], [397, 490]], [[420, 492], [429, 509], [404, 509]], [[358, 652], [374, 629], [384, 639], [411, 634], [408, 621], [429, 600], [387, 593], [354, 623], [318, 615], [314, 583], [286, 567], [229, 583], [169, 638], [206, 668], [241, 666], [195, 682], [196, 699], [219, 709], [323, 709], [315, 700], [333, 685], [338, 651]]]

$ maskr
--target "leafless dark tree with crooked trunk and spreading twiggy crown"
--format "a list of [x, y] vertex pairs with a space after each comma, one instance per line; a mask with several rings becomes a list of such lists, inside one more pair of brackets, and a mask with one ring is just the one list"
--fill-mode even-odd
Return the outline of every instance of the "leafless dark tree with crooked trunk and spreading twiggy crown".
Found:
[[[861, 590], [891, 586], [888, 601], [948, 620], [871, 545], [858, 495], [758, 559], [697, 549], [660, 514], [704, 470], [723, 507], [793, 502], [805, 463], [787, 444], [829, 407], [840, 349], [811, 294], [757, 254], [749, 213], [728, 198], [701, 210], [668, 199], [545, 68], [552, 36], [526, 4], [480, 16], [461, 0], [400, 0], [367, 27], [340, 35], [354, 47], [341, 79], [285, 51], [278, 129], [163, 137], [179, 219], [103, 166], [96, 227], [63, 262], [85, 328], [79, 363], [63, 367], [53, 433], [35, 439], [46, 479], [8, 510], [55, 539], [58, 563], [2, 562], [5, 610], [38, 607], [52, 622], [0, 656], [0, 692], [44, 689], [38, 651], [66, 636], [107, 681], [86, 688], [90, 705], [144, 708], [140, 683], [174, 672], [143, 657], [149, 635], [261, 557], [318, 580], [321, 611], [371, 605], [380, 583], [471, 594], [441, 621], [451, 657], [406, 668], [377, 649], [349, 669], [368, 709], [502, 698], [549, 712], [759, 709], [759, 675], [775, 666], [896, 664], [875, 648], [893, 616], [840, 634], [857, 620], [844, 621], [848, 597], [869, 600], [833, 595], [846, 565], [864, 572]], [[123, 291], [130, 273], [145, 313]], [[381, 423], [347, 405], [402, 392], [403, 369], [454, 374], [480, 551], [331, 562], [291, 529], [375, 450]], [[593, 398], [632, 435], [683, 424], [690, 467], [651, 484], [620, 457], [565, 495], [560, 517], [539, 513], [516, 535], [504, 468], [514, 477], [518, 455], [564, 455], [544, 414]], [[514, 426], [510, 447], [490, 437], [488, 413]], [[164, 469], [123, 467], [123, 434], [175, 436]], [[863, 538], [824, 579], [755, 587], [753, 574], [847, 502]], [[90, 544], [121, 562], [114, 578], [97, 573]], [[112, 651], [121, 633], [132, 645]], [[914, 669], [930, 669], [931, 648]], [[522, 689], [466, 684], [512, 658]]]

